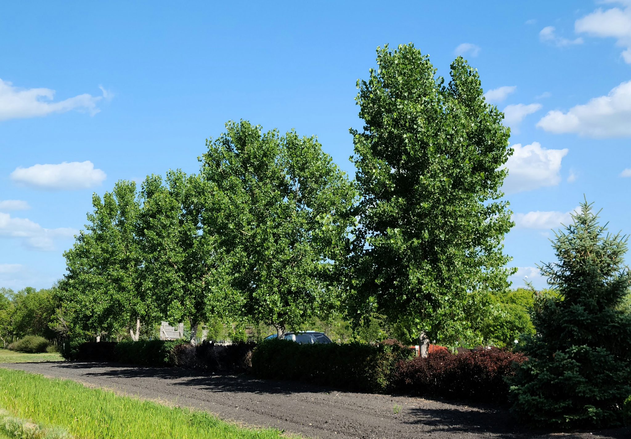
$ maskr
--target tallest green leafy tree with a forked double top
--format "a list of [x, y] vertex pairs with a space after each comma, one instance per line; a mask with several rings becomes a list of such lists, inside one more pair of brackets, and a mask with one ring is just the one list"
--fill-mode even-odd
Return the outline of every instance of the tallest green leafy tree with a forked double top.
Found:
[[358, 81], [365, 126], [351, 129], [362, 200], [350, 315], [386, 315], [424, 348], [479, 338], [486, 294], [510, 274], [504, 115], [461, 57], [448, 85], [412, 44], [378, 48], [377, 66]]

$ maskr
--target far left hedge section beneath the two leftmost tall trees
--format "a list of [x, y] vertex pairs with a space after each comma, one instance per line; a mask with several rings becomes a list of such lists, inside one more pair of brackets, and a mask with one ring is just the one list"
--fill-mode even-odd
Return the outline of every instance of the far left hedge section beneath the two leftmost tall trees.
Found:
[[66, 360], [115, 361], [153, 367], [198, 368], [208, 372], [246, 372], [251, 367], [254, 344], [220, 346], [203, 342], [191, 346], [184, 340], [140, 340], [121, 342], [70, 341], [61, 354]]

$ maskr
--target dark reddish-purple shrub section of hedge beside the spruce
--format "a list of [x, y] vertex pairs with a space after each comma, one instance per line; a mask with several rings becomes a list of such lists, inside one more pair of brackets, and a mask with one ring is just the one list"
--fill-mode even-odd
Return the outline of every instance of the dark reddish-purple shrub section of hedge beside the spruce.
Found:
[[483, 402], [507, 401], [504, 378], [515, 374], [514, 364], [526, 356], [502, 349], [480, 349], [451, 354], [442, 349], [427, 358], [399, 361], [393, 390], [404, 394]]

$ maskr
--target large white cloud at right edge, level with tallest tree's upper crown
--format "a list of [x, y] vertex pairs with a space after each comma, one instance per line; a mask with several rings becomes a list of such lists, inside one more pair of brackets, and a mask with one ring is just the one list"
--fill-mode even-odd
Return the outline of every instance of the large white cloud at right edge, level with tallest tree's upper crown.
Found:
[[548, 112], [537, 123], [555, 134], [573, 132], [591, 138], [631, 136], [631, 81], [613, 88], [608, 95], [575, 105], [567, 113]]

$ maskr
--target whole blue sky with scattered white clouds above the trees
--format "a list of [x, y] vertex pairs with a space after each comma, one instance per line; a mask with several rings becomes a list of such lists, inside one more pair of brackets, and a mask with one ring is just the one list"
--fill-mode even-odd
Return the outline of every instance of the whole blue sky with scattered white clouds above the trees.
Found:
[[[300, 2], [298, 2], [300, 3]], [[631, 232], [631, 0], [13, 2], [0, 15], [0, 286], [50, 286], [91, 194], [198, 170], [227, 120], [317, 134], [351, 177], [378, 45], [458, 54], [507, 114], [514, 285], [583, 195]]]

